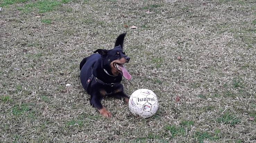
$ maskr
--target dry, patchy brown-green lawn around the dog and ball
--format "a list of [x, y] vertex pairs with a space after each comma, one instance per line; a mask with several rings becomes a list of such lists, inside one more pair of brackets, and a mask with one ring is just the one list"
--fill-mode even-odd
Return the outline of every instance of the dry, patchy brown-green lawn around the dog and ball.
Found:
[[[0, 142], [256, 140], [253, 0], [0, 0], [0, 7]], [[113, 114], [105, 119], [80, 84], [80, 61], [112, 48], [123, 31], [133, 76], [124, 90], [156, 93], [150, 119], [104, 99]]]

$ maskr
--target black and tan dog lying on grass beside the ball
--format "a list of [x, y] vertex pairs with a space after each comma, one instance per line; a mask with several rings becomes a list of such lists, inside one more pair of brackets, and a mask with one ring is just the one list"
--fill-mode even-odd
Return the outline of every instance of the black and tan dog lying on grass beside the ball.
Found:
[[124, 98], [128, 104], [129, 97], [123, 92], [120, 83], [122, 76], [130, 80], [131, 75], [123, 66], [130, 58], [123, 52], [123, 40], [126, 33], [120, 34], [114, 45], [114, 49], [98, 49], [80, 63], [80, 80], [86, 92], [91, 95], [93, 105], [103, 116], [110, 118], [112, 115], [101, 104], [105, 96], [118, 99]]

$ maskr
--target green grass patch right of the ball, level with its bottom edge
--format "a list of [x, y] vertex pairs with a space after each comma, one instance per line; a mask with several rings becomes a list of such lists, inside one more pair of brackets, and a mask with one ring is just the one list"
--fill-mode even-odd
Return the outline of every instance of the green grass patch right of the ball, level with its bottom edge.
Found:
[[224, 123], [224, 124], [230, 124], [230, 125], [236, 125], [240, 123], [240, 119], [238, 119], [235, 115], [232, 115], [230, 112], [224, 113], [220, 118], [217, 119], [217, 122]]

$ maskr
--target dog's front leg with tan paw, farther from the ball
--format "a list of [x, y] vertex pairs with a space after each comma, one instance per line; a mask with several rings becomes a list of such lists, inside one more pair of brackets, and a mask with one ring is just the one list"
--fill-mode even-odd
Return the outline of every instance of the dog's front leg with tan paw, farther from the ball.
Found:
[[96, 108], [103, 116], [107, 117], [107, 118], [111, 118], [112, 115], [109, 111], [106, 110], [106, 108], [104, 106], [102, 106], [101, 104], [101, 100], [102, 98], [97, 97], [96, 95], [92, 95], [91, 96], [91, 105]]

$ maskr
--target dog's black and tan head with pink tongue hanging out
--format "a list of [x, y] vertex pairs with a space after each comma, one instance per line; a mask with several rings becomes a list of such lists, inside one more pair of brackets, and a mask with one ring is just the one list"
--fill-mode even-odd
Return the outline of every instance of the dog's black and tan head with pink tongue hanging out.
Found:
[[123, 65], [124, 63], [128, 63], [130, 61], [130, 57], [123, 52], [121, 45], [118, 45], [111, 50], [97, 49], [94, 51], [94, 53], [96, 52], [101, 54], [101, 57], [103, 58], [103, 69], [107, 70], [107, 72], [113, 76], [122, 74], [126, 79], [131, 79], [131, 75]]

